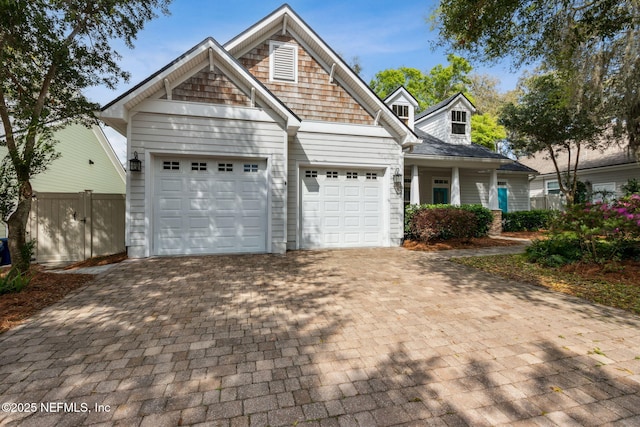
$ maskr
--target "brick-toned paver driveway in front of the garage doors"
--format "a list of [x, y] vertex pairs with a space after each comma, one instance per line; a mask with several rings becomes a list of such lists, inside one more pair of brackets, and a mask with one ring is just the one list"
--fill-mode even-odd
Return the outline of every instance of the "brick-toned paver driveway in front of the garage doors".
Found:
[[0, 424], [639, 425], [639, 320], [399, 248], [127, 262], [0, 336]]

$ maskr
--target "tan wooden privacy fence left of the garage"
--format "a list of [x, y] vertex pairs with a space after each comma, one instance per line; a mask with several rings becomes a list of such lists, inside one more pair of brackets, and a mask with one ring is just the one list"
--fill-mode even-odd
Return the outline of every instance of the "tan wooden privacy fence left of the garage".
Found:
[[37, 262], [82, 261], [124, 252], [124, 194], [36, 193], [29, 237]]

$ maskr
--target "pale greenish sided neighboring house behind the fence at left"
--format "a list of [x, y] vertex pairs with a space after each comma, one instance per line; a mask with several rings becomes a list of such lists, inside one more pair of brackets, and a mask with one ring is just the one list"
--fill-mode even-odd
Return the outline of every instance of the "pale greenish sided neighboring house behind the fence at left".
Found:
[[[60, 157], [36, 175], [31, 185], [37, 193], [125, 193], [125, 171], [99, 126], [71, 124], [56, 131], [55, 150]], [[7, 154], [0, 147], [0, 158]], [[6, 227], [0, 223], [0, 236]]]

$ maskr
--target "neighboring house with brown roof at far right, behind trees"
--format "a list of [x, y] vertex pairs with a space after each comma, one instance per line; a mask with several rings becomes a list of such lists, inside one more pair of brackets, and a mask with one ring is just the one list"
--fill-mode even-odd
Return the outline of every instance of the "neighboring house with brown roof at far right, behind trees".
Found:
[[[563, 174], [567, 171], [567, 160], [566, 152], [558, 154], [557, 162]], [[539, 172], [531, 181], [531, 197], [560, 195], [558, 176], [548, 154], [537, 153], [520, 162]], [[578, 179], [586, 185], [592, 201], [622, 196], [622, 186], [633, 178], [640, 180], [640, 163], [626, 148], [611, 144], [604, 150], [583, 148], [580, 151]]]

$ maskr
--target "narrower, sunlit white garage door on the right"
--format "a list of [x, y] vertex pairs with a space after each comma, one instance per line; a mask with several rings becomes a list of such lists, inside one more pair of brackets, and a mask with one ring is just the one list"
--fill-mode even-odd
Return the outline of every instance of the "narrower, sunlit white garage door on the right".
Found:
[[381, 170], [302, 169], [301, 246], [381, 246], [383, 175]]

